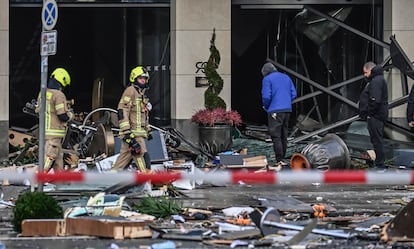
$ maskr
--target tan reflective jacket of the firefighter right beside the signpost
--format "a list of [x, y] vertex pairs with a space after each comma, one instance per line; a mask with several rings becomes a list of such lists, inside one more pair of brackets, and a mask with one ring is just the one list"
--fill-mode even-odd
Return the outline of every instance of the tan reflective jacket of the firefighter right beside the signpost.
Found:
[[[40, 101], [39, 94], [38, 103], [41, 103]], [[64, 116], [63, 120], [62, 116]], [[65, 137], [66, 124], [72, 120], [73, 116], [73, 113], [69, 110], [65, 94], [58, 89], [48, 88], [46, 90], [45, 106], [45, 138]]]

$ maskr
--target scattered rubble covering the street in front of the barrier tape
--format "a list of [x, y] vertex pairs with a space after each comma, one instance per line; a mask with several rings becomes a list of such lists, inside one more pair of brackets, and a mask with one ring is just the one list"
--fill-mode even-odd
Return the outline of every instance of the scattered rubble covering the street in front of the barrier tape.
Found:
[[[13, 186], [3, 188], [8, 187]], [[251, 196], [251, 192], [246, 193], [246, 196], [251, 196], [249, 199], [241, 200], [246, 205], [239, 206], [240, 202], [230, 200], [230, 203], [234, 203], [233, 206], [220, 208], [206, 200], [210, 205], [203, 208], [202, 204], [197, 204], [199, 199], [191, 197], [192, 195], [199, 195], [203, 191], [229, 191], [229, 195], [234, 196], [231, 191], [248, 190], [243, 185], [197, 185], [196, 189], [186, 190], [187, 192], [173, 188], [175, 194], [178, 194], [173, 196], [165, 186], [148, 192], [141, 191], [140, 187], [142, 186], [134, 186], [135, 190], [126, 191], [128, 193], [125, 194], [97, 192], [97, 188], [93, 191], [91, 188], [87, 192], [75, 191], [78, 195], [71, 195], [74, 191], [70, 185], [48, 184], [45, 190], [60, 200], [65, 210], [64, 218], [25, 220], [22, 223], [21, 234], [9, 233], [7, 236], [54, 239], [69, 237], [71, 240], [100, 238], [117, 241], [146, 239], [148, 245], [159, 241], [174, 245], [165, 248], [180, 248], [179, 245], [183, 242], [192, 243], [191, 248], [291, 248], [298, 245], [304, 248], [414, 246], [414, 202], [408, 199], [400, 203], [401, 208], [397, 209], [398, 212], [395, 208], [390, 208], [391, 212], [378, 213], [373, 209], [371, 212], [364, 210], [358, 213], [357, 210], [344, 210], [339, 205], [334, 206], [334, 202], [329, 202], [321, 196], [315, 198], [312, 195], [311, 202], [291, 196], [265, 197], [264, 195], [271, 191], [265, 192], [264, 188], [252, 186], [249, 191], [261, 191], [263, 195], [256, 196], [253, 201], [254, 196]], [[50, 189], [54, 190], [48, 191]], [[226, 198], [223, 193], [216, 193], [215, 196]], [[157, 204], [152, 204], [151, 208], [143, 206], [142, 203], [148, 199]], [[216, 202], [220, 203], [220, 200]], [[226, 205], [223, 201], [221, 203]], [[6, 210], [13, 210], [12, 201], [5, 204], [0, 211], [2, 214]], [[4, 235], [2, 238], [5, 238]], [[382, 247], [378, 247], [379, 245]]]

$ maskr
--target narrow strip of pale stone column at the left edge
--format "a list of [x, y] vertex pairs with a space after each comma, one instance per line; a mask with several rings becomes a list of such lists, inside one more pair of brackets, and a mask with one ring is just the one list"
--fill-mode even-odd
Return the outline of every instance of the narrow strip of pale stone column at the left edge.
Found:
[[0, 1], [0, 159], [9, 155], [9, 1]]

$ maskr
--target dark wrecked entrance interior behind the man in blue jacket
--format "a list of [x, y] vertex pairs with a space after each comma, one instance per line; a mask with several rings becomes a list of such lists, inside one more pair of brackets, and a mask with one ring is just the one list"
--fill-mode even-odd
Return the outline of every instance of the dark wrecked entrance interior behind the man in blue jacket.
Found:
[[[372, 37], [382, 37], [382, 4], [313, 5], [346, 25]], [[232, 108], [243, 120], [266, 124], [261, 107], [261, 66], [270, 58], [324, 87], [362, 74], [367, 60], [382, 62], [382, 48], [303, 8], [232, 9]], [[309, 84], [290, 75], [298, 96], [312, 92]], [[362, 81], [335, 91], [354, 102]], [[315, 108], [315, 106], [317, 108]], [[313, 111], [311, 110], [313, 108]], [[327, 94], [294, 105], [300, 114], [321, 122], [334, 122], [356, 114], [352, 108]]]

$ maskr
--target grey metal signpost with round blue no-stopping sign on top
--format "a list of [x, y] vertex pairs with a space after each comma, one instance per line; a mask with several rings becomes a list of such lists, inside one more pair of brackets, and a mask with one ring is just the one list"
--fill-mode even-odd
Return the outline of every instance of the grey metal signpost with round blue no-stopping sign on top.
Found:
[[[42, 8], [42, 24], [43, 32], [40, 36], [40, 112], [39, 112], [39, 171], [43, 172], [45, 163], [45, 105], [46, 105], [46, 89], [47, 89], [47, 69], [48, 56], [56, 54], [57, 49], [57, 31], [52, 29], [55, 27], [58, 17], [58, 8], [55, 0], [43, 0]], [[43, 191], [43, 184], [38, 185], [38, 191]]]

